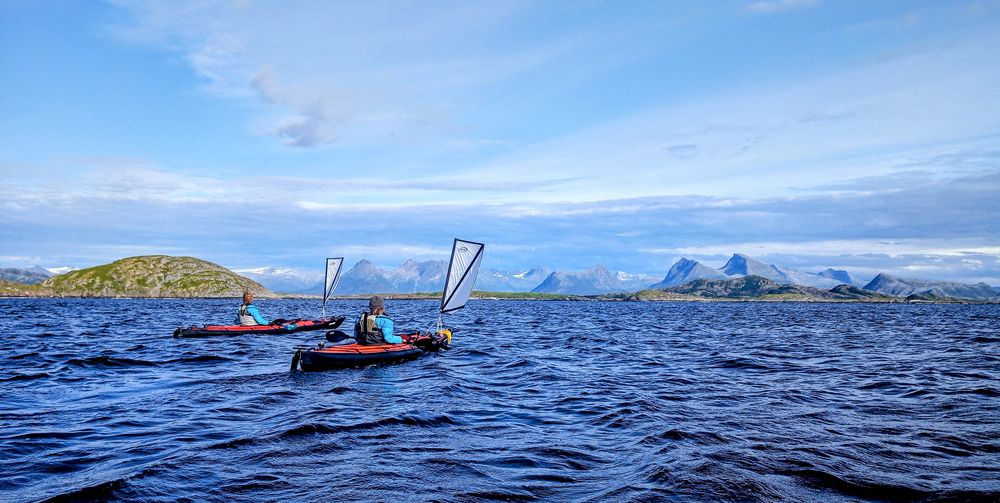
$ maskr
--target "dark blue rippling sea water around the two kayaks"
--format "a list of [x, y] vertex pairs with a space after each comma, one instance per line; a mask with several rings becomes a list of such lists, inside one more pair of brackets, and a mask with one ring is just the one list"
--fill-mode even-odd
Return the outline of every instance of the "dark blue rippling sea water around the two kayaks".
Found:
[[311, 373], [322, 334], [171, 337], [237, 304], [0, 299], [0, 500], [1000, 499], [997, 305], [483, 300]]

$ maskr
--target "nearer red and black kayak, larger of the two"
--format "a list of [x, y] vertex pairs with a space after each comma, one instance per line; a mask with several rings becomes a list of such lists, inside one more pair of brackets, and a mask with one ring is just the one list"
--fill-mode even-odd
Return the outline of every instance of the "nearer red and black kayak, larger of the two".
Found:
[[[336, 332], [343, 337], [332, 336], [336, 341], [347, 334]], [[451, 332], [442, 330], [436, 334], [400, 334], [402, 344], [339, 344], [315, 348], [299, 348], [292, 357], [292, 370], [301, 367], [304, 371], [367, 367], [368, 365], [400, 363], [417, 359], [420, 355], [447, 348], [451, 342]]]

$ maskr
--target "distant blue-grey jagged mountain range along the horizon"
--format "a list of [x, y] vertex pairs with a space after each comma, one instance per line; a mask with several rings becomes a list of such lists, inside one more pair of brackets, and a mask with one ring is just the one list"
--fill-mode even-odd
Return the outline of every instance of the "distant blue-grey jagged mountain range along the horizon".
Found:
[[[407, 260], [395, 269], [382, 269], [363, 259], [342, 273], [337, 294], [360, 295], [370, 293], [402, 294], [440, 292], [448, 263], [444, 260], [417, 262]], [[249, 278], [264, 288], [290, 294], [322, 293], [323, 273], [283, 267], [238, 269], [235, 272]], [[0, 269], [0, 281], [16, 284], [40, 284], [52, 276], [41, 267], [30, 269]], [[779, 286], [792, 285], [830, 290], [840, 285], [854, 289], [891, 295], [895, 297], [919, 296], [927, 298], [961, 298], [985, 300], [998, 297], [998, 290], [985, 283], [975, 285], [904, 279], [879, 274], [868, 283], [859, 282], [847, 271], [826, 269], [821, 272], [802, 272], [765, 264], [747, 255], [734, 254], [721, 268], [681, 258], [662, 278], [645, 274], [628, 274], [611, 271], [597, 265], [584, 271], [549, 272], [542, 267], [522, 271], [480, 270], [475, 289], [484, 292], [535, 292], [567, 295], [602, 295], [638, 292], [643, 290], [669, 290], [692, 281], [720, 281], [755, 276], [765, 278]], [[61, 276], [55, 276], [59, 278]], [[659, 280], [659, 281], [657, 281]], [[675, 292], [677, 293], [677, 292]]]

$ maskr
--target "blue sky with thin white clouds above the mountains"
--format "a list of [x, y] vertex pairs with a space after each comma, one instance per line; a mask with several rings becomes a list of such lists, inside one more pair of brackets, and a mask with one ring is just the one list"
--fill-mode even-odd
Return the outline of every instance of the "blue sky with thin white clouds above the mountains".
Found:
[[1000, 286], [1000, 1], [0, 3], [0, 266]]

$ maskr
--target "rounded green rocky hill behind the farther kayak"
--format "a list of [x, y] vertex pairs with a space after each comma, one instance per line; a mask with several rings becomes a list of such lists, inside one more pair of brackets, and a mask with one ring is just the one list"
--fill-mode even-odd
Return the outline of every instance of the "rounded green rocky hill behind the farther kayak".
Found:
[[81, 269], [40, 285], [42, 295], [67, 297], [258, 297], [276, 296], [249, 278], [194, 257], [149, 255]]

